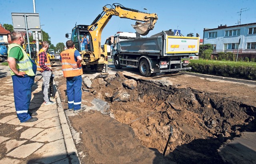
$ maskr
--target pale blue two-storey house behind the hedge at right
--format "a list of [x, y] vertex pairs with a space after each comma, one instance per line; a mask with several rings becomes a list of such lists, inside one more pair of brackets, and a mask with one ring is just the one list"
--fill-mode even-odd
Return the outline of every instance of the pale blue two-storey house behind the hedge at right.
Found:
[[215, 56], [218, 52], [238, 52], [238, 57], [256, 59], [256, 23], [204, 28], [203, 39], [203, 44], [212, 44]]

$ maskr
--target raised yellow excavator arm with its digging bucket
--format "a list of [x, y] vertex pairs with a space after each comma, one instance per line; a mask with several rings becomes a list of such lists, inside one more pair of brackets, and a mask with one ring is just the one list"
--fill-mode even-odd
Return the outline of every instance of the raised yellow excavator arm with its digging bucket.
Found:
[[[106, 6], [111, 6], [111, 8], [107, 8]], [[137, 20], [136, 24], [132, 25], [132, 27], [142, 36], [146, 36], [150, 30], [154, 29], [154, 25], [158, 19], [158, 16], [155, 13], [150, 14], [146, 12], [140, 12], [138, 10], [126, 8], [120, 4], [109, 4], [106, 6], [103, 7], [102, 13], [99, 14], [97, 18], [92, 22], [92, 24], [87, 27], [88, 32], [92, 37], [94, 49], [94, 59], [91, 61], [95, 61], [101, 57], [101, 33], [112, 16], [119, 16], [120, 18]]]

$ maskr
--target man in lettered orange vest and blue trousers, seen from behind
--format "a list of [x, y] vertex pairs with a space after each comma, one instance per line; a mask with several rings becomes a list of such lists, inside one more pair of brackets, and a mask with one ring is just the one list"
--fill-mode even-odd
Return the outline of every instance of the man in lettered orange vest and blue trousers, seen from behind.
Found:
[[68, 96], [68, 109], [74, 110], [74, 113], [84, 111], [85, 108], [81, 108], [82, 102], [82, 57], [78, 50], [74, 47], [72, 40], [66, 41], [66, 47], [68, 49], [60, 53], [60, 61], [62, 63], [62, 71], [64, 77], [66, 77], [67, 96]]

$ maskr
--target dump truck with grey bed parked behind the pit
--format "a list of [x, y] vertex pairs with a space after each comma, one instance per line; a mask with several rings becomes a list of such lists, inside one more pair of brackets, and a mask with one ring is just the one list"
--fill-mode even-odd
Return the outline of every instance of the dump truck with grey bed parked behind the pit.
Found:
[[[118, 33], [114, 36], [112, 62], [116, 69], [122, 67], [138, 68], [142, 76], [156, 73], [178, 73], [188, 70], [187, 58], [198, 54], [200, 36], [168, 36], [162, 31], [161, 36], [140, 38], [132, 33]], [[183, 60], [184, 59], [184, 60]]]

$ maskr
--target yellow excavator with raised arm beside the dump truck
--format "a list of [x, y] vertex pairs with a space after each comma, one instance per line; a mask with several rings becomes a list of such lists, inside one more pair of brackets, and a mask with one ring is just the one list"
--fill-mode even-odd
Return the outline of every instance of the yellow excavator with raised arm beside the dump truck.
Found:
[[[107, 6], [110, 6], [110, 8]], [[141, 21], [136, 21], [135, 25], [132, 25], [132, 27], [142, 36], [146, 36], [150, 30], [154, 29], [154, 25], [158, 19], [155, 13], [141, 12], [139, 10], [126, 8], [121, 4], [114, 3], [112, 5], [105, 5], [101, 14], [97, 16], [91, 25], [77, 25], [72, 29], [71, 40], [74, 41], [75, 48], [80, 51], [83, 59], [82, 67], [86, 68], [89, 66], [96, 71], [102, 71], [104, 65], [106, 65], [105, 69], [107, 73], [107, 45], [104, 45], [105, 51], [103, 51], [100, 46], [100, 41], [102, 30], [112, 16]], [[89, 44], [86, 46], [86, 49], [82, 50], [80, 41], [84, 34], [88, 36]], [[69, 38], [68, 33], [66, 34], [66, 38]]]

